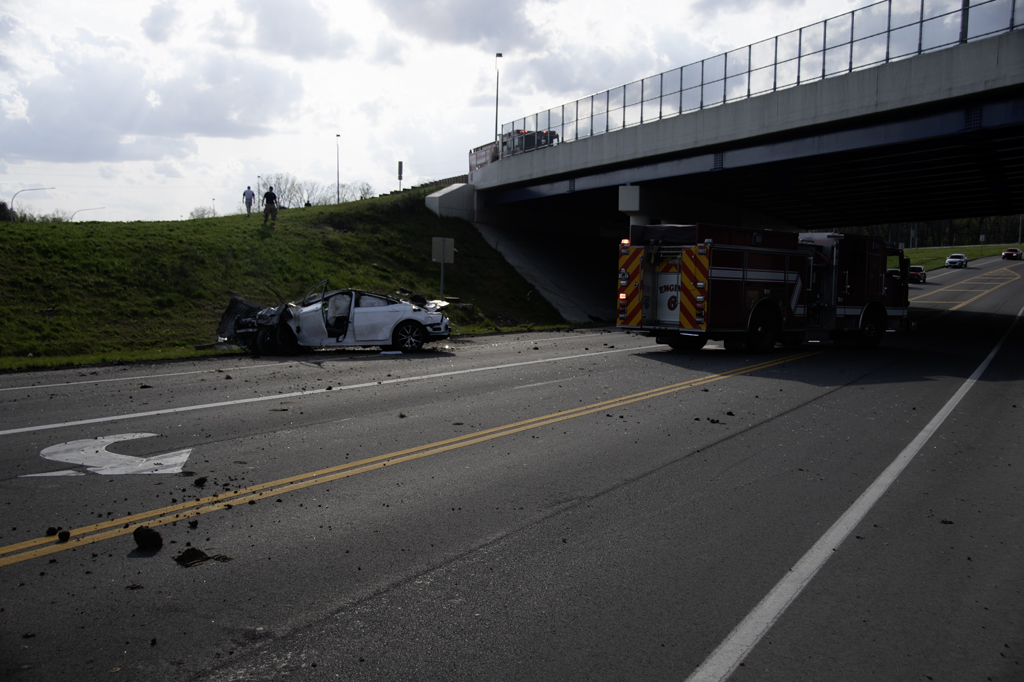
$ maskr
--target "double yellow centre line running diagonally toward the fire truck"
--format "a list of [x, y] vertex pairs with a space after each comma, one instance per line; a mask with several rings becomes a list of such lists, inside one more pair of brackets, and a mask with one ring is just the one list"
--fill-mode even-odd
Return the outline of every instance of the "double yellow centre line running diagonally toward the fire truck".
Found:
[[339, 480], [341, 478], [376, 471], [378, 469], [394, 466], [403, 462], [412, 462], [413, 460], [430, 457], [431, 455], [439, 455], [441, 453], [458, 450], [460, 447], [476, 445], [481, 442], [494, 440], [495, 438], [503, 438], [505, 436], [521, 433], [522, 431], [557, 424], [558, 422], [563, 422], [569, 419], [577, 419], [578, 417], [586, 417], [595, 413], [614, 410], [633, 402], [650, 400], [652, 398], [675, 393], [687, 388], [693, 388], [694, 386], [701, 386], [703, 384], [710, 384], [722, 379], [750, 374], [752, 372], [775, 367], [784, 363], [810, 357], [818, 352], [819, 351], [815, 350], [773, 358], [763, 363], [758, 363], [757, 365], [751, 365], [730, 370], [728, 372], [713, 374], [699, 379], [691, 379], [678, 384], [662, 386], [660, 388], [654, 388], [640, 393], [613, 398], [611, 400], [594, 402], [581, 408], [545, 415], [543, 417], [535, 417], [534, 419], [527, 419], [521, 422], [507, 424], [505, 426], [498, 426], [492, 429], [477, 431], [475, 433], [468, 433], [466, 435], [449, 438], [446, 440], [438, 440], [436, 442], [420, 445], [418, 447], [400, 450], [394, 453], [388, 453], [387, 455], [379, 455], [366, 460], [359, 460], [358, 462], [349, 462], [335, 467], [329, 467], [327, 469], [319, 469], [318, 471], [311, 471], [296, 476], [290, 476], [288, 478], [281, 478], [267, 483], [260, 483], [259, 485], [252, 485], [238, 491], [216, 494], [200, 500], [194, 500], [191, 502], [182, 502], [170, 507], [162, 507], [160, 509], [154, 509], [140, 514], [123, 516], [121, 518], [103, 521], [101, 523], [75, 528], [71, 531], [71, 538], [66, 542], [61, 542], [55, 537], [46, 537], [29, 540], [14, 545], [8, 545], [6, 547], [0, 547], [0, 566], [8, 566], [20, 561], [27, 561], [29, 559], [54, 554], [56, 552], [62, 552], [76, 547], [84, 547], [86, 545], [102, 542], [104, 540], [111, 540], [112, 538], [127, 536], [132, 534], [135, 528], [140, 525], [148, 525], [151, 527], [166, 525], [168, 523], [181, 521], [195, 516], [202, 516], [203, 514], [209, 514], [211, 512], [223, 511], [239, 505], [255, 504], [256, 502], [264, 500], [268, 497], [275, 497], [284, 495], [285, 493], [300, 491], [312, 485], [330, 483], [331, 481]]

